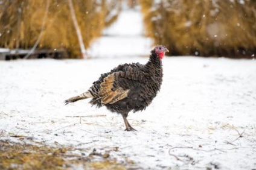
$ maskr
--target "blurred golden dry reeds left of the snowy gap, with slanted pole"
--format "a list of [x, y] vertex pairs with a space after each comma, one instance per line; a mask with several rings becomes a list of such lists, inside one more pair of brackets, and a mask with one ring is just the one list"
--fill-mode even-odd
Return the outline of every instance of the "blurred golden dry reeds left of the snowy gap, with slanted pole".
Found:
[[[101, 35], [104, 27], [117, 19], [120, 3], [116, 1], [73, 1], [78, 25], [82, 31], [85, 48]], [[116, 10], [117, 13], [110, 14]], [[4, 0], [0, 4], [0, 46], [4, 48], [31, 48], [41, 32], [45, 0]], [[80, 46], [72, 22], [68, 1], [50, 1], [45, 28], [39, 49], [65, 48], [71, 58], [80, 58]]]

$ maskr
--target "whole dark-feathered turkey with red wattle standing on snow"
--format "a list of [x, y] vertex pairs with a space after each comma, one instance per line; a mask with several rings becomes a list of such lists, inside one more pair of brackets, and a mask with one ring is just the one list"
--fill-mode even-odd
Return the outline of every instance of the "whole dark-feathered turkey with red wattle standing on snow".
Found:
[[130, 111], [146, 109], [159, 92], [162, 84], [162, 58], [169, 52], [165, 46], [156, 46], [146, 65], [140, 63], [119, 65], [110, 72], [101, 74], [84, 93], [66, 99], [65, 103], [92, 98], [90, 103], [123, 116], [126, 131], [135, 131], [127, 116]]

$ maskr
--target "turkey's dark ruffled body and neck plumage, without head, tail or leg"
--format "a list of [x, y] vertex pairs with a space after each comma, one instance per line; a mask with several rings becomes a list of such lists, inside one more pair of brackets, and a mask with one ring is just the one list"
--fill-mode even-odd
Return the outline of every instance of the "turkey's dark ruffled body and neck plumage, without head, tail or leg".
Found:
[[[162, 84], [162, 61], [155, 55], [150, 56], [146, 65], [139, 63], [119, 65], [112, 71], [101, 74], [101, 77], [89, 89], [89, 92], [94, 96], [90, 103], [97, 105], [97, 107], [105, 105], [111, 112], [120, 113], [126, 117], [130, 111], [138, 112], [146, 109]], [[111, 87], [110, 90], [119, 88], [127, 95], [117, 102], [104, 104], [104, 99], [99, 95], [99, 92], [102, 88], [101, 83], [104, 83], [104, 78], [108, 76], [114, 78], [112, 83], [114, 87]]]

